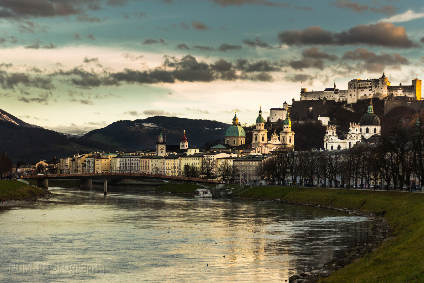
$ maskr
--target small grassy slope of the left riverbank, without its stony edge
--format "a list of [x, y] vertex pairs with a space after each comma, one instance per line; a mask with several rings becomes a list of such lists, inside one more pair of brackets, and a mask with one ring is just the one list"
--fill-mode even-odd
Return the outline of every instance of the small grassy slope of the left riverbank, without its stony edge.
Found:
[[0, 180], [0, 199], [28, 199], [45, 196], [45, 191], [15, 180]]

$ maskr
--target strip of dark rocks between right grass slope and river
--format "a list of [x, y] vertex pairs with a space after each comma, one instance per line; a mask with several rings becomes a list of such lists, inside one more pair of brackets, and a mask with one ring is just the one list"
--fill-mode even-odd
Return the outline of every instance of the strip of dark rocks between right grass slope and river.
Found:
[[240, 199], [252, 199], [252, 200], [259, 200], [259, 201], [268, 201], [268, 202], [283, 202], [283, 203], [290, 203], [293, 205], [306, 205], [306, 206], [313, 206], [313, 207], [320, 207], [320, 208], [327, 208], [332, 210], [338, 210], [341, 212], [346, 212], [355, 216], [363, 216], [367, 217], [371, 221], [373, 221], [374, 227], [371, 230], [371, 236], [368, 238], [367, 241], [363, 241], [359, 244], [356, 244], [356, 247], [353, 249], [349, 249], [348, 251], [343, 253], [343, 258], [340, 259], [334, 259], [332, 261], [327, 262], [324, 264], [323, 267], [315, 267], [310, 272], [300, 272], [299, 274], [295, 274], [291, 277], [289, 277], [285, 282], [289, 283], [315, 283], [318, 282], [321, 278], [329, 277], [332, 272], [342, 269], [343, 267], [347, 266], [349, 263], [352, 263], [354, 261], [359, 261], [360, 258], [362, 258], [364, 255], [370, 252], [375, 252], [379, 246], [381, 246], [385, 241], [389, 241], [393, 239], [394, 237], [388, 237], [390, 234], [390, 228], [388, 225], [387, 219], [384, 217], [385, 211], [376, 211], [372, 213], [365, 213], [360, 210], [349, 210], [347, 208], [339, 208], [339, 207], [332, 207], [328, 205], [316, 205], [316, 204], [310, 204], [307, 202], [291, 202], [291, 201], [285, 201], [285, 200], [270, 200], [270, 199], [254, 199], [254, 198], [242, 198], [242, 197], [236, 197]]

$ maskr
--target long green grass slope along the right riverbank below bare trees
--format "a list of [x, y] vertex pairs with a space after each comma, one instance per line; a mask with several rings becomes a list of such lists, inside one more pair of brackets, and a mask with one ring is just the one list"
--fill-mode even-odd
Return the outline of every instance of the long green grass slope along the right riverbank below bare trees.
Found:
[[254, 187], [240, 196], [307, 202], [368, 213], [385, 211], [390, 236], [396, 238], [322, 282], [424, 282], [424, 193]]

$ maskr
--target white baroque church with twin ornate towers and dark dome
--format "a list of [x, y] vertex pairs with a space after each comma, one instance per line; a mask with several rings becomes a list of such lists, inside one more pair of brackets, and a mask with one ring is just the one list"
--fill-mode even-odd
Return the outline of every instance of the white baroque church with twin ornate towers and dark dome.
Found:
[[349, 132], [340, 137], [336, 127], [328, 125], [324, 136], [325, 149], [350, 149], [360, 143], [375, 143], [381, 137], [380, 119], [374, 114], [372, 101], [359, 123], [350, 123]]

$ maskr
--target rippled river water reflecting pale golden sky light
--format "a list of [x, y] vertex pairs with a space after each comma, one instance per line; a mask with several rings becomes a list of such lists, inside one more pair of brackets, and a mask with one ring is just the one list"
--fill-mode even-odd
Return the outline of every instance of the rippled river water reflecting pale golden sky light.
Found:
[[0, 282], [284, 282], [340, 257], [372, 227], [275, 202], [50, 191], [2, 208]]

